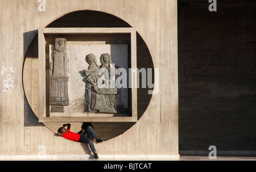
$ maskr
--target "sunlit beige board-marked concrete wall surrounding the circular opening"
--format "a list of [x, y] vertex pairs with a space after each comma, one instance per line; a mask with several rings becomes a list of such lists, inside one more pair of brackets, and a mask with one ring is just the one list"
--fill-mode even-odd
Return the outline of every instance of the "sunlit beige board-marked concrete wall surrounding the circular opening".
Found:
[[[33, 155], [44, 150], [46, 154], [89, 153], [88, 145], [56, 137], [51, 129], [38, 122], [34, 115], [39, 107], [35, 96], [38, 58], [33, 58], [36, 52], [26, 54], [39, 28], [77, 10], [107, 12], [125, 20], [141, 35], [154, 68], [160, 72], [159, 92], [152, 95], [141, 118], [122, 135], [96, 144], [98, 153], [179, 154], [176, 1], [46, 0], [46, 11], [42, 12], [38, 10], [40, 2], [35, 0], [2, 0], [0, 5], [1, 155]], [[30, 60], [23, 68], [24, 57]], [[28, 90], [26, 96], [23, 85]]]

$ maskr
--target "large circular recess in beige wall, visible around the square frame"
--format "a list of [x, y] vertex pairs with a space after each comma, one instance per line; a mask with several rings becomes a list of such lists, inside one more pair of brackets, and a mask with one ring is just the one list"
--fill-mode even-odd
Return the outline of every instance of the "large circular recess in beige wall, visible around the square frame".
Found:
[[[92, 10], [82, 10], [74, 11], [57, 18], [53, 22], [49, 23], [46, 28], [131, 28], [130, 24], [124, 20], [108, 14], [106, 12], [92, 11]], [[31, 35], [35, 35], [33, 31], [31, 34], [24, 34], [24, 43], [26, 39], [31, 39]], [[154, 65], [152, 62], [152, 57], [150, 51], [147, 48], [146, 43], [143, 41], [139, 33], [136, 33], [137, 40], [137, 68], [153, 69], [152, 82], [154, 83]], [[95, 39], [95, 38], [93, 38]], [[102, 40], [99, 40], [102, 41]], [[117, 43], [118, 40], [115, 38], [115, 41], [109, 41]], [[34, 119], [34, 115], [38, 117], [39, 114], [39, 81], [40, 77], [38, 73], [38, 36], [36, 35], [31, 41], [28, 49], [25, 50], [26, 55], [24, 58], [23, 64], [23, 88], [26, 95], [25, 104], [27, 104], [27, 113], [25, 113], [24, 118], [27, 120], [27, 123], [30, 123], [31, 119]], [[46, 65], [46, 68], [49, 68], [49, 65]], [[142, 86], [143, 81], [142, 74], [139, 75], [139, 86]], [[147, 82], [147, 80], [144, 80]], [[48, 84], [48, 83], [47, 83]], [[147, 109], [148, 104], [151, 100], [151, 94], [148, 94], [148, 90], [152, 88], [139, 87], [137, 89], [137, 115], [138, 120], [142, 117], [144, 112]], [[35, 123], [35, 120], [32, 120], [32, 123]], [[118, 135], [121, 135], [127, 129], [132, 127], [136, 122], [96, 122], [93, 121], [91, 124], [94, 129], [104, 140], [112, 139]], [[51, 122], [43, 123], [56, 133], [57, 129], [61, 127], [63, 123]], [[71, 123], [73, 132], [79, 132], [81, 129], [81, 122]]]

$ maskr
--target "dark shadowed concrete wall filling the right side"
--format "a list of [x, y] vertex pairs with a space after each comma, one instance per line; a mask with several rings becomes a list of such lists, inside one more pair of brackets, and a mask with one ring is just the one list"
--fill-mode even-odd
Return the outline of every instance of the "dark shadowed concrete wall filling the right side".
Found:
[[179, 149], [255, 153], [256, 3], [209, 5], [178, 3]]

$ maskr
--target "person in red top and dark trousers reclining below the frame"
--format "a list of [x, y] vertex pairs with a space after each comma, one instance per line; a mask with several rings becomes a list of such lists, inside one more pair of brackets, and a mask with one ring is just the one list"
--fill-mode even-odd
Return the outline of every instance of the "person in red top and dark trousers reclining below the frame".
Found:
[[[68, 126], [68, 129], [65, 129], [66, 126]], [[101, 138], [97, 135], [94, 129], [90, 125], [88, 125], [86, 128], [82, 127], [82, 130], [79, 133], [73, 133], [70, 131], [70, 127], [71, 127], [71, 124], [63, 124], [63, 127], [60, 127], [58, 129], [58, 136], [61, 136], [61, 137], [64, 137], [65, 139], [76, 141], [76, 142], [88, 143], [90, 146], [90, 149], [94, 154], [94, 158], [98, 159], [98, 154], [93, 145], [93, 141], [89, 139], [88, 135], [89, 133], [92, 134], [92, 136], [96, 139], [96, 142], [102, 142], [103, 140], [101, 140]]]

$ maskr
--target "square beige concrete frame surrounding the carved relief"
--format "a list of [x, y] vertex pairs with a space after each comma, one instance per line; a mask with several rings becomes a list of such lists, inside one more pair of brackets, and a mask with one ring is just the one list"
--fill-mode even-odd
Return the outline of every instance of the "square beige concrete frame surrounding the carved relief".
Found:
[[38, 31], [39, 48], [39, 122], [134, 122], [137, 116], [137, 70], [131, 76], [131, 114], [104, 114], [97, 113], [82, 117], [58, 116], [51, 117], [47, 114], [47, 93], [46, 93], [46, 36], [48, 35], [83, 35], [83, 34], [120, 34], [129, 33], [131, 35], [131, 65], [130, 68], [137, 69], [137, 43], [134, 28], [40, 28]]

